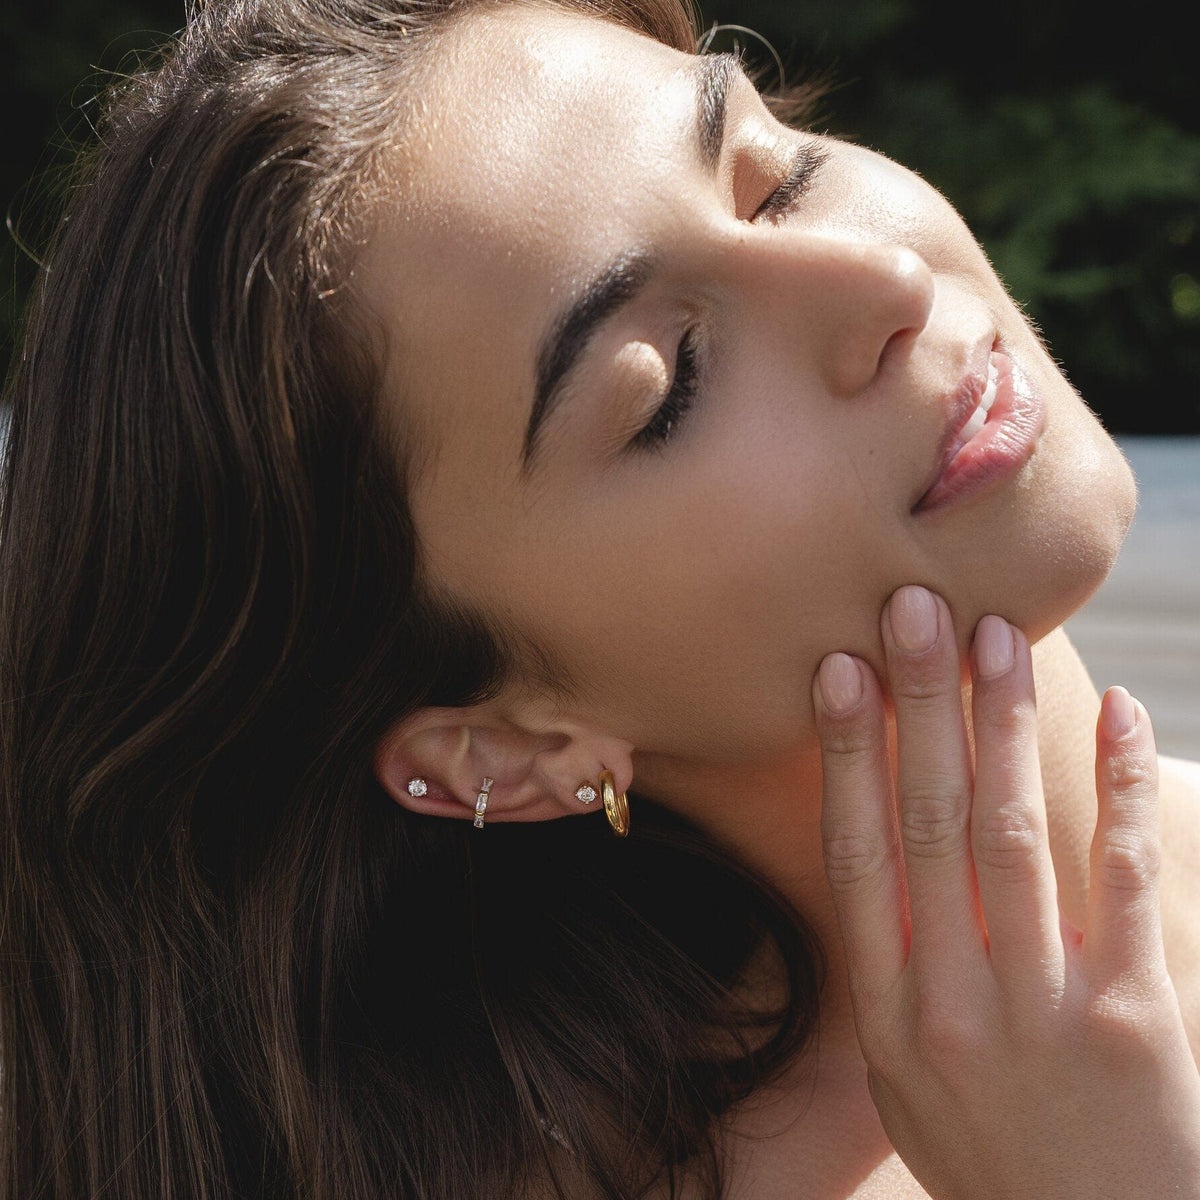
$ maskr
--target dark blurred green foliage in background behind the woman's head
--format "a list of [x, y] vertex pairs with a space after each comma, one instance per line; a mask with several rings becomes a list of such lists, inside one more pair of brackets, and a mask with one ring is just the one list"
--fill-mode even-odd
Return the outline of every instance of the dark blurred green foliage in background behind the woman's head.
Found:
[[[1200, 71], [1178, 10], [1158, 2], [1111, 16], [1078, 0], [701, 7], [708, 24], [758, 31], [790, 73], [833, 79], [818, 128], [950, 198], [1110, 428], [1200, 432]], [[182, 0], [10, 0], [0, 17], [0, 199], [36, 253], [97, 88], [182, 23]], [[755, 38], [722, 36], [773, 70]], [[4, 354], [32, 271], [4, 239]]]

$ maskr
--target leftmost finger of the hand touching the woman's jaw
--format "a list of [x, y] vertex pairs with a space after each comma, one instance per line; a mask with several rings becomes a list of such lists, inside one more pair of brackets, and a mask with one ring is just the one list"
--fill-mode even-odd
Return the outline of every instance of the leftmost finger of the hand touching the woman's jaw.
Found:
[[826, 875], [852, 990], [878, 994], [899, 978], [907, 950], [883, 696], [864, 664], [830, 654], [817, 672], [814, 703]]

